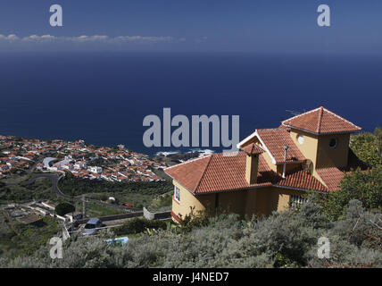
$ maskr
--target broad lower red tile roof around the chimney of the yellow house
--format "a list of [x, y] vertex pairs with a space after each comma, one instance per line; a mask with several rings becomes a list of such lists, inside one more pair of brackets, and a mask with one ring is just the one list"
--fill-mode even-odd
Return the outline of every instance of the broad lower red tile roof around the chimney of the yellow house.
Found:
[[171, 166], [165, 169], [165, 172], [195, 194], [271, 185], [294, 189], [327, 190], [320, 181], [301, 169], [287, 172], [286, 178], [281, 178], [270, 169], [262, 155], [259, 156], [257, 182], [249, 184], [245, 181], [244, 152], [239, 152], [236, 156], [223, 156], [222, 154], [204, 156]]

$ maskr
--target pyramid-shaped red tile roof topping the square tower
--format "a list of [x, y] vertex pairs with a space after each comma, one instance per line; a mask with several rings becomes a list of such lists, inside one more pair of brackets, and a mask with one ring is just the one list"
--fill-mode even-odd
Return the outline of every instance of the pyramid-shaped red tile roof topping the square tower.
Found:
[[282, 124], [314, 134], [331, 134], [361, 130], [361, 127], [354, 125], [352, 122], [345, 120], [345, 118], [332, 113], [322, 106], [307, 113], [286, 119]]

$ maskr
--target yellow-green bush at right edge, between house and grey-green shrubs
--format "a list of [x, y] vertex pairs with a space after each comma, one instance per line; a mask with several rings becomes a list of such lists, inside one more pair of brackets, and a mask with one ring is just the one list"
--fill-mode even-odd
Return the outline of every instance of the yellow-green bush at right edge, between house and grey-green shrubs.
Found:
[[331, 219], [338, 219], [344, 215], [345, 206], [352, 199], [361, 201], [367, 209], [378, 209], [382, 206], [382, 167], [361, 172], [345, 174], [340, 182], [341, 190], [330, 192], [324, 203], [324, 214]]

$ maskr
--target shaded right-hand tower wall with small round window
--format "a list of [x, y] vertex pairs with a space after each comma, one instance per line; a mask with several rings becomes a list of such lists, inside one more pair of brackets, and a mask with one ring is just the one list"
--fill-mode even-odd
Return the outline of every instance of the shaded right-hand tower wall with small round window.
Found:
[[[336, 148], [329, 147], [331, 139], [337, 139]], [[350, 134], [321, 135], [317, 153], [317, 167], [344, 167], [347, 165]]]

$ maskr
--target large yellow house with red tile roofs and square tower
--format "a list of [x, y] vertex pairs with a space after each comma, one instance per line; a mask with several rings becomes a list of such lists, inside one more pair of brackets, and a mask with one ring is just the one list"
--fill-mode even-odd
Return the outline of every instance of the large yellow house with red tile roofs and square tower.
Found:
[[212, 154], [165, 169], [173, 179], [172, 218], [217, 207], [240, 215], [268, 215], [303, 203], [308, 190], [336, 191], [351, 168], [366, 168], [349, 148], [361, 130], [324, 107], [299, 114], [278, 128], [258, 129], [239, 152]]

